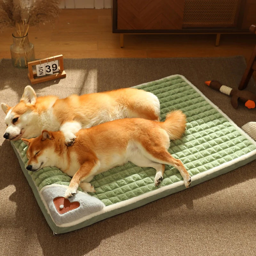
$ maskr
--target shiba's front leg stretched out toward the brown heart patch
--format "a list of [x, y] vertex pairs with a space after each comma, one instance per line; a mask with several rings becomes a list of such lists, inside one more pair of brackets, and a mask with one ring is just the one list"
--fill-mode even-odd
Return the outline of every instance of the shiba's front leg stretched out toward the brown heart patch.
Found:
[[[92, 176], [93, 173], [97, 172], [100, 167], [100, 161], [98, 159], [92, 159], [86, 161], [78, 171], [75, 173], [73, 178], [70, 181], [68, 189], [65, 192], [65, 198], [71, 197], [76, 194], [76, 189], [78, 188], [80, 181], [86, 179], [89, 176]], [[86, 183], [86, 187], [89, 186], [89, 183]], [[84, 186], [83, 186], [84, 187]], [[94, 192], [94, 188], [90, 186], [90, 190], [88, 192]]]

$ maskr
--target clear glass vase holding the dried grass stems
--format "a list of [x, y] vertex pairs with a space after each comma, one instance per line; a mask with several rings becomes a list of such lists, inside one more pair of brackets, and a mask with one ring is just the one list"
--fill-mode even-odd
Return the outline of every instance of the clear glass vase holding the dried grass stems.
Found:
[[27, 68], [28, 62], [35, 60], [34, 45], [26, 36], [17, 37], [12, 34], [13, 44], [10, 46], [12, 64], [18, 68]]

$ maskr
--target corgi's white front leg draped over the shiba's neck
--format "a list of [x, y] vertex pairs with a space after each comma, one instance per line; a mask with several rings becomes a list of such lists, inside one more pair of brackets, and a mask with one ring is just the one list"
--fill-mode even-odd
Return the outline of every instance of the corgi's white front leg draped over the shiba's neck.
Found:
[[81, 127], [81, 124], [76, 121], [66, 122], [60, 126], [60, 131], [62, 131], [65, 136], [65, 144], [67, 146], [73, 145], [76, 139], [75, 134], [81, 129]]

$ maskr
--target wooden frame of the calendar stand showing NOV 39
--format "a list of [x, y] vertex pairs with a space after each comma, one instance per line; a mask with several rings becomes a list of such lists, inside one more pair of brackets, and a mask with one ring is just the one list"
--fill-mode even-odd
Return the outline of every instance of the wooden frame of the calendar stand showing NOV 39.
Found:
[[[50, 62], [53, 60], [59, 60], [59, 71], [58, 72], [53, 73], [53, 75], [46, 75], [43, 77], [36, 76], [36, 72], [33, 72], [33, 66], [38, 65], [38, 64], [44, 64], [46, 62]], [[31, 84], [38, 84], [38, 83], [42, 83], [45, 81], [58, 79], [61, 77], [66, 77], [66, 72], [64, 71], [64, 68], [63, 68], [63, 55], [62, 54], [52, 56], [49, 58], [45, 58], [45, 59], [41, 59], [41, 60], [34, 60], [34, 61], [28, 62], [28, 78], [29, 78]]]

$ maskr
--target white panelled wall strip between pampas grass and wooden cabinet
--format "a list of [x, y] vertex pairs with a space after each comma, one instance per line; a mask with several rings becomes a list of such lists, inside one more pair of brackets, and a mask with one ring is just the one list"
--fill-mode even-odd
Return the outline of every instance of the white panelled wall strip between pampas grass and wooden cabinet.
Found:
[[111, 8], [112, 0], [61, 0], [61, 9], [103, 9]]

